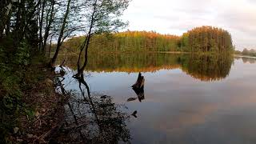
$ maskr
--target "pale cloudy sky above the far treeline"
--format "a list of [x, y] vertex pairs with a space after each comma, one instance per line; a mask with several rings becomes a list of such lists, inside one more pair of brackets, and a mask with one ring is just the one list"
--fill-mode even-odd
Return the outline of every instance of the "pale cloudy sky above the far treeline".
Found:
[[237, 50], [256, 49], [256, 0], [132, 0], [129, 30], [182, 35], [195, 26], [228, 30]]

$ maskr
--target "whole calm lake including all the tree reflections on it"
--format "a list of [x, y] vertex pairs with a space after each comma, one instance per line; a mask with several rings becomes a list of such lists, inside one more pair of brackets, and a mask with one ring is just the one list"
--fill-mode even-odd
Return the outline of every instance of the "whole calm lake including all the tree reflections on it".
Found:
[[[66, 127], [77, 126], [66, 138], [74, 142], [256, 142], [254, 58], [94, 54], [85, 71], [91, 98], [86, 86], [80, 89], [72, 78], [76, 57], [66, 62], [62, 84], [73, 94], [66, 105]], [[138, 94], [131, 86], [139, 72], [145, 85]]]

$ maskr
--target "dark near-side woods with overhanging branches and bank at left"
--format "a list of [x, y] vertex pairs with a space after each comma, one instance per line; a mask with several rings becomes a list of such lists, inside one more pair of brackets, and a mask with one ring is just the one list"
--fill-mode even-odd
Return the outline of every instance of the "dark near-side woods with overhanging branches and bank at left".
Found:
[[[63, 106], [58, 107], [62, 98], [55, 93], [53, 72], [62, 43], [77, 33], [86, 35], [76, 59], [77, 76], [82, 79], [90, 37], [126, 26], [120, 16], [129, 2], [0, 2], [0, 143], [47, 143], [46, 138], [34, 136], [46, 134], [62, 119], [56, 115]], [[54, 54], [47, 58], [51, 43], [55, 43]], [[84, 59], [80, 59], [82, 54]], [[50, 113], [43, 114], [46, 111]]]

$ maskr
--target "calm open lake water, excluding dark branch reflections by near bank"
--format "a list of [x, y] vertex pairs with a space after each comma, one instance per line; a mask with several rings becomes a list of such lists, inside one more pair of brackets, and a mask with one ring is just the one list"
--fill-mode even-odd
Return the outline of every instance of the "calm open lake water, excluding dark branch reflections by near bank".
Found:
[[[131, 143], [255, 143], [256, 59], [191, 54], [90, 58], [86, 82], [130, 116]], [[72, 58], [70, 58], [72, 59]], [[75, 58], [74, 58], [75, 59]], [[67, 64], [72, 67], [72, 62]], [[145, 99], [130, 86], [145, 78]], [[74, 72], [73, 72], [74, 73]], [[79, 90], [72, 72], [67, 90]]]

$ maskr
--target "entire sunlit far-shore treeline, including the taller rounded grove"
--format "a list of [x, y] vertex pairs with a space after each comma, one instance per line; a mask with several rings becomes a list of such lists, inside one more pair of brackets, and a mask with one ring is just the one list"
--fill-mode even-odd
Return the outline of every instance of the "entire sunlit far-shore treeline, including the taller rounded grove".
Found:
[[[64, 43], [66, 48], [75, 50], [81, 45], [84, 36], [70, 38]], [[129, 51], [185, 51], [185, 52], [232, 52], [231, 35], [226, 30], [212, 26], [202, 26], [189, 30], [181, 37], [158, 34], [154, 31], [125, 31], [113, 34], [94, 35], [90, 51], [129, 52]]]

